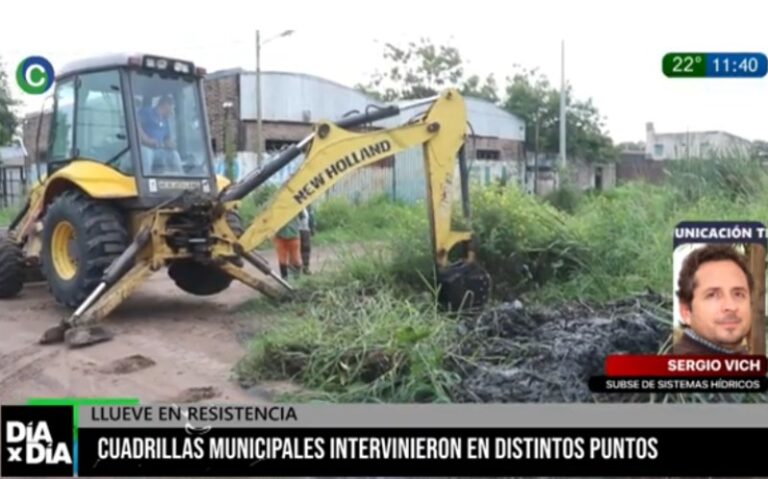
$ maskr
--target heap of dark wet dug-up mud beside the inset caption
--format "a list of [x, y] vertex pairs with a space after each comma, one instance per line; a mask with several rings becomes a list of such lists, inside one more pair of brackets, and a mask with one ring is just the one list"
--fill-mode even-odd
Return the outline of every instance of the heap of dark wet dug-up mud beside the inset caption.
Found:
[[504, 303], [459, 326], [458, 402], [636, 402], [647, 394], [597, 394], [613, 353], [655, 354], [672, 330], [671, 301], [653, 294], [590, 306]]

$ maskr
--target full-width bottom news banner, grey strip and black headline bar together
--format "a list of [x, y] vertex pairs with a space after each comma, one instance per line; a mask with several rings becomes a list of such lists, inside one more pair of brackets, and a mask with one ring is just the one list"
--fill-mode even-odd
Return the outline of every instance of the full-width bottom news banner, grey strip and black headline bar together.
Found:
[[0, 413], [1, 472], [14, 477], [738, 476], [768, 467], [760, 404], [79, 406], [76, 442], [71, 407]]

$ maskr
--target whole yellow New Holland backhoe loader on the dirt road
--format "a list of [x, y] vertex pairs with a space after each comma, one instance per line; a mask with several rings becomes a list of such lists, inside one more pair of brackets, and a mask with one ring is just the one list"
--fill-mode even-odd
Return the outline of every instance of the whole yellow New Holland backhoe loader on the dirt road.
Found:
[[[490, 278], [475, 262], [474, 238], [451, 228], [457, 164], [469, 214], [467, 118], [457, 91], [410, 105], [425, 112], [396, 127], [361, 129], [399, 115], [396, 106], [320, 121], [264, 168], [230, 183], [214, 173], [204, 76], [191, 62], [153, 55], [92, 58], [59, 72], [37, 183], [0, 239], [0, 298], [45, 280], [74, 310], [40, 342], [76, 347], [109, 339], [94, 323], [161, 268], [195, 295], [219, 293], [233, 279], [274, 297], [292, 291], [254, 250], [342, 178], [414, 146], [424, 152], [439, 300], [451, 308], [487, 300]], [[302, 155], [244, 227], [240, 200]], [[459, 259], [451, 261], [455, 248]], [[245, 263], [274, 282], [254, 277]]]

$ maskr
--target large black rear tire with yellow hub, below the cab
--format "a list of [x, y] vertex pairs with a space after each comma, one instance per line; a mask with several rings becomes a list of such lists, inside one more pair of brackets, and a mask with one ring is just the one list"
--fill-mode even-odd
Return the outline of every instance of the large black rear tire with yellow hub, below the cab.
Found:
[[[62, 276], [54, 262], [52, 240], [57, 225], [64, 223], [74, 234], [70, 241], [72, 251], [68, 248], [67, 257], [71, 258], [73, 253], [76, 263], [74, 274]], [[79, 306], [99, 285], [104, 270], [130, 243], [125, 218], [119, 209], [79, 191], [62, 193], [48, 206], [43, 219], [40, 260], [53, 297], [69, 308]]]

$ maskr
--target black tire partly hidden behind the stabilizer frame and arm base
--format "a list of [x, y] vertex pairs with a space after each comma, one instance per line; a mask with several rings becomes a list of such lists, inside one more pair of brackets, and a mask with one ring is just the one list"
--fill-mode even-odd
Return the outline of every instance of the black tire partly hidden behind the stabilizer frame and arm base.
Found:
[[[243, 221], [237, 211], [227, 211], [227, 224], [238, 238], [242, 236]], [[243, 265], [240, 258], [237, 258], [233, 263], [237, 266]], [[211, 296], [221, 293], [232, 284], [232, 277], [219, 268], [191, 260], [172, 263], [168, 267], [168, 276], [181, 290], [195, 296]]]

